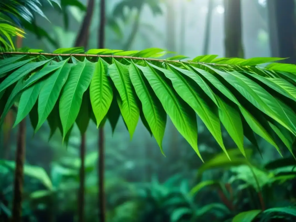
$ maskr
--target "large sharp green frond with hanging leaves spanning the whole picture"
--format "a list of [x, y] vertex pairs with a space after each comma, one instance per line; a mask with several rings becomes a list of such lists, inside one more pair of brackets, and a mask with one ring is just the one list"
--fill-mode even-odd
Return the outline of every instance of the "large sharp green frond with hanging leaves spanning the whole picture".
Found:
[[168, 115], [202, 159], [197, 114], [226, 155], [221, 123], [245, 156], [244, 136], [259, 149], [255, 134], [293, 154], [296, 65], [275, 63], [281, 58], [174, 61], [156, 59], [165, 52], [155, 48], [40, 51], [1, 53], [0, 125], [16, 105], [15, 125], [29, 115], [38, 131], [47, 120], [51, 135], [58, 128], [67, 142], [75, 122], [82, 131], [90, 119], [115, 126], [121, 114], [131, 138], [141, 117], [162, 148]]

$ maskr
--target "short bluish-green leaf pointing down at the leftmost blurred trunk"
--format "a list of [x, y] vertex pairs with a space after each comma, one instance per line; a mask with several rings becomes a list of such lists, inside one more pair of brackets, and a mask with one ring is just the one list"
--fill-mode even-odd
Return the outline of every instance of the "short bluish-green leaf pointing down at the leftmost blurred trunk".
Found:
[[44, 81], [40, 81], [39, 83], [29, 87], [22, 93], [18, 105], [17, 117], [13, 127], [19, 124], [32, 110], [43, 86]]

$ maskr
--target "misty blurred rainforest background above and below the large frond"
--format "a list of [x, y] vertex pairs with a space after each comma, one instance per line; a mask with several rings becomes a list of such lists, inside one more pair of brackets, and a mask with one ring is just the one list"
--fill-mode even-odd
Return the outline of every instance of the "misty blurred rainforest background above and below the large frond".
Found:
[[[61, 10], [44, 1], [44, 14], [50, 22], [37, 15], [36, 24], [25, 27], [23, 47], [52, 52], [75, 46], [88, 2], [63, 2]], [[86, 50], [98, 48], [100, 1], [93, 3], [91, 24], [85, 33]], [[189, 59], [205, 54], [290, 57], [285, 62], [295, 63], [295, 9], [294, 0], [107, 0], [104, 48], [127, 51], [156, 47]], [[17, 128], [11, 129], [15, 114], [9, 115], [0, 144], [2, 218], [10, 214], [13, 167], [7, 165], [15, 158], [17, 133]], [[258, 138], [262, 158], [246, 140], [251, 162], [246, 163], [226, 130], [222, 131], [226, 148], [233, 149], [232, 162], [198, 119], [203, 164], [169, 118], [163, 140], [166, 157], [141, 121], [132, 140], [122, 117], [115, 129], [107, 121], [107, 221], [231, 221], [234, 215], [248, 210], [293, 206], [296, 173], [289, 151], [281, 147], [282, 159], [274, 147]], [[62, 145], [59, 131], [50, 140], [49, 135], [48, 123], [34, 135], [27, 118], [23, 221], [78, 221], [79, 129], [73, 127], [67, 146]], [[98, 130], [90, 121], [86, 133], [84, 221], [98, 221], [97, 150]], [[294, 213], [278, 210], [256, 220], [294, 221], [295, 217], [295, 209]]]

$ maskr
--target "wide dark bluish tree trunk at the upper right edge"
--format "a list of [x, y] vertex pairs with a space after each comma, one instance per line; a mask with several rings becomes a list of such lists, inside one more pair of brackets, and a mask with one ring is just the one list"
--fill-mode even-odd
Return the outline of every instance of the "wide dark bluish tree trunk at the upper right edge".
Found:
[[294, 0], [268, 0], [269, 44], [271, 56], [289, 57], [283, 62], [296, 63], [296, 24]]

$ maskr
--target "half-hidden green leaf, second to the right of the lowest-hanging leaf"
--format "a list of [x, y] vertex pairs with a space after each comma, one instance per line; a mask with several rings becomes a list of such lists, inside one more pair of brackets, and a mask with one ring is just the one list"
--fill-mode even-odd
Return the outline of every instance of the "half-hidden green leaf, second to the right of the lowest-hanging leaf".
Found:
[[[216, 99], [219, 104], [219, 118], [225, 127], [226, 131], [229, 133], [229, 136], [233, 139], [237, 147], [242, 152], [244, 156], [246, 153], [244, 151], [244, 131], [242, 127], [242, 119], [239, 115], [239, 112], [236, 105], [228, 104], [223, 99], [216, 96]], [[224, 151], [225, 152], [225, 151]], [[227, 154], [227, 152], [225, 152]]]

